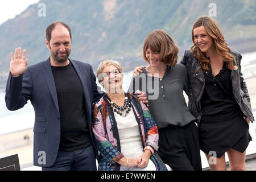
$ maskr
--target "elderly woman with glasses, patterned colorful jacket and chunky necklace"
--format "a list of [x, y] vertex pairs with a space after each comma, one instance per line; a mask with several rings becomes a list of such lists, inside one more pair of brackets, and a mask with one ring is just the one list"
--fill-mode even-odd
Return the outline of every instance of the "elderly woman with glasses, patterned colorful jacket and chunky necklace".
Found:
[[166, 170], [157, 154], [158, 128], [137, 96], [123, 92], [122, 66], [105, 60], [97, 77], [106, 91], [93, 105], [92, 130], [100, 152], [99, 170]]

